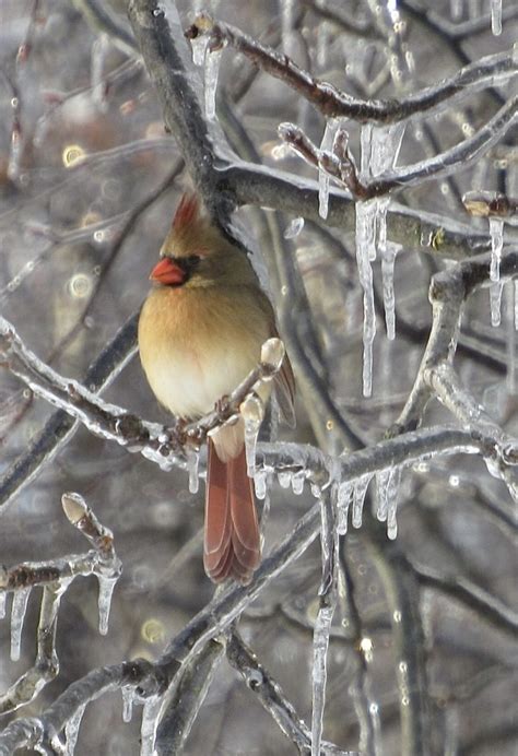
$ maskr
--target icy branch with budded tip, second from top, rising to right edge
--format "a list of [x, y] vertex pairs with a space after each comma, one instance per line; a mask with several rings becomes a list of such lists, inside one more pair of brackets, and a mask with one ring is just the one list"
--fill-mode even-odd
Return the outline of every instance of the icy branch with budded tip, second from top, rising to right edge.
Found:
[[415, 165], [404, 166], [370, 181], [360, 180], [355, 163], [344, 149], [341, 155], [335, 152], [321, 151], [304, 134], [303, 130], [293, 123], [281, 123], [279, 135], [297, 152], [304, 160], [325, 170], [343, 184], [355, 199], [367, 200], [396, 192], [405, 187], [415, 186], [429, 179], [449, 175], [454, 169], [459, 170], [471, 161], [483, 155], [503, 135], [518, 122], [518, 97], [510, 98], [499, 110], [472, 137], [460, 144], [446, 150]]

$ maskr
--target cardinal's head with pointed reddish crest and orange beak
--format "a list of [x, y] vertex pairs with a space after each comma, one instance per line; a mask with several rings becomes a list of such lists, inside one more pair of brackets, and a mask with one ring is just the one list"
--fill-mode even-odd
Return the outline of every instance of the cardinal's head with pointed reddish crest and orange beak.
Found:
[[237, 285], [254, 276], [246, 255], [203, 213], [196, 194], [184, 194], [150, 279], [163, 286]]

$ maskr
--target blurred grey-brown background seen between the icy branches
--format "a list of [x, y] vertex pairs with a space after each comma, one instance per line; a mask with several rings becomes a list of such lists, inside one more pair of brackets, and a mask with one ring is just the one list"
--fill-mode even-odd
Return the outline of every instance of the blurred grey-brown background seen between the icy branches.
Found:
[[[388, 9], [396, 4], [397, 28], [384, 26]], [[89, 22], [86, 7], [80, 0], [1, 0], [0, 7], [0, 314], [42, 359], [76, 379], [140, 307], [176, 203], [189, 187], [141, 59]], [[204, 5], [179, 2], [178, 8], [187, 27]], [[106, 10], [131, 34], [122, 0], [106, 3]], [[401, 0], [380, 10], [370, 0], [215, 0], [208, 10], [284, 50], [316, 76], [365, 98], [404, 97], [472, 60], [509, 49], [518, 31], [518, 8], [510, 0], [503, 3], [499, 36], [492, 34], [490, 0]], [[398, 164], [458, 143], [513, 94], [516, 81], [413, 120]], [[293, 121], [319, 144], [322, 117], [283, 82], [257, 72], [232, 49], [223, 54], [217, 113], [244, 157], [250, 158], [245, 150], [249, 140], [256, 152], [252, 160], [316, 178], [311, 167], [280, 146], [276, 127]], [[231, 128], [236, 123], [237, 131]], [[358, 127], [350, 122], [346, 128], [357, 157]], [[437, 227], [444, 218], [445, 224], [460, 221], [473, 232], [486, 233], [487, 222], [470, 218], [461, 197], [474, 189], [518, 196], [516, 138], [516, 130], [509, 131], [474, 164], [400, 192], [397, 202], [436, 213]], [[306, 222], [298, 235], [284, 238], [292, 220], [260, 208], [236, 214], [259, 264], [269, 271], [273, 300], [279, 306], [283, 296], [291, 297], [282, 322], [302, 351], [295, 371], [309, 369], [313, 361], [343, 422], [364, 444], [375, 442], [395, 422], [412, 387], [429, 332], [431, 275], [449, 263], [433, 249], [417, 252], [411, 239], [399, 251], [395, 341], [386, 336], [380, 263], [374, 263], [378, 333], [373, 397], [365, 399], [363, 292], [354, 228]], [[507, 233], [516, 241], [516, 226], [508, 226]], [[279, 283], [283, 255], [291, 261], [291, 292], [281, 291]], [[514, 287], [507, 284], [501, 326], [492, 328], [487, 290], [471, 297], [456, 365], [493, 418], [516, 435], [515, 307]], [[148, 420], [168, 422], [138, 357], [104, 395]], [[0, 373], [1, 475], [9, 473], [51, 413], [52, 407], [33, 398], [20, 381]], [[429, 406], [427, 423], [450, 420], [438, 403]], [[307, 391], [299, 394], [297, 421], [293, 433], [281, 427], [280, 438], [342, 451], [343, 437], [334, 422], [315, 416]], [[201, 558], [203, 489], [200, 485], [199, 493], [191, 494], [186, 472], [164, 473], [81, 428], [9, 506], [2, 505], [4, 565], [86, 551], [62, 513], [64, 491], [80, 492], [114, 531], [123, 564], [106, 637], [97, 633], [95, 579], [78, 578], [70, 586], [58, 623], [60, 674], [21, 716], [44, 710], [72, 681], [96, 666], [133, 657], [154, 659], [210, 600], [213, 587]], [[276, 481], [271, 481], [270, 491], [266, 553], [314, 501], [309, 491], [295, 496]], [[374, 753], [398, 756], [404, 751], [400, 711], [405, 701], [384, 578], [384, 570], [403, 564], [419, 623], [415, 642], [426, 672], [427, 751], [516, 754], [517, 646], [509, 625], [488, 621], [483, 602], [470, 609], [455, 591], [445, 590], [440, 579], [432, 584], [423, 578], [426, 571], [445, 582], [460, 578], [481, 595], [516, 607], [516, 530], [505, 485], [490, 475], [479, 457], [421, 462], [403, 473], [397, 541], [388, 542], [368, 523], [368, 516], [366, 520], [365, 532], [353, 530], [341, 543], [349, 599], [337, 611], [330, 642], [325, 737], [344, 751], [362, 747], [358, 698], [364, 695], [378, 707]], [[261, 593], [239, 623], [245, 639], [307, 723], [319, 581], [317, 543]], [[39, 600], [40, 591], [33, 590], [19, 662], [9, 658], [9, 618], [0, 623], [2, 690], [33, 663]], [[75, 753], [138, 754], [140, 716], [125, 724], [121, 709], [119, 693], [90, 705]], [[223, 660], [185, 753], [294, 752]]]

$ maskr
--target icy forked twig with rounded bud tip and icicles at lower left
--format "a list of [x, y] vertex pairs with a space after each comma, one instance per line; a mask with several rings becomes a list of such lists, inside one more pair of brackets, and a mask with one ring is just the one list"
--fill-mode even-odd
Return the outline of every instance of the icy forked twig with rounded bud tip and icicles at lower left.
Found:
[[64, 494], [64, 513], [91, 543], [86, 554], [72, 554], [50, 562], [26, 562], [11, 568], [0, 567], [0, 605], [5, 595], [13, 593], [11, 616], [11, 657], [20, 658], [20, 643], [27, 599], [31, 589], [43, 586], [39, 623], [37, 628], [36, 661], [27, 672], [0, 695], [0, 714], [28, 704], [59, 672], [56, 653], [56, 627], [61, 596], [72, 580], [96, 575], [99, 583], [99, 631], [108, 629], [108, 614], [113, 589], [121, 572], [121, 564], [114, 548], [111, 532], [101, 524], [94, 512], [79, 494]]

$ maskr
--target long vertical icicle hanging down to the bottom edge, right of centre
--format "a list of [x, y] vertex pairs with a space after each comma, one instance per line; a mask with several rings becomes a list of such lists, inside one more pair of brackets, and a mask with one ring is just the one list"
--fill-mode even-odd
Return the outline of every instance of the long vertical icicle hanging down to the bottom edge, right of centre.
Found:
[[313, 633], [313, 717], [311, 756], [320, 756], [323, 707], [326, 704], [327, 654], [334, 604], [321, 603]]

